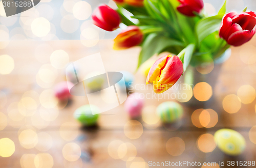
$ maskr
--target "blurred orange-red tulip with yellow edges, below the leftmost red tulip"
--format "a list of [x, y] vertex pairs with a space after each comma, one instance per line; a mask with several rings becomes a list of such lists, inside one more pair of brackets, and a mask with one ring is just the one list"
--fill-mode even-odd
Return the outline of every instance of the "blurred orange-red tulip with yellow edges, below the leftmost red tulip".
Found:
[[139, 45], [143, 40], [143, 33], [138, 26], [130, 25], [114, 39], [114, 49], [126, 49]]

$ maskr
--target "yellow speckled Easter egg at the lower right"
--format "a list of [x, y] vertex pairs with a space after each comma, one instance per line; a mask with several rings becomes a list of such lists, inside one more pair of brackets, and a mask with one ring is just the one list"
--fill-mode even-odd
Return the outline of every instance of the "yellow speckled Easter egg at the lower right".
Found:
[[232, 129], [220, 129], [215, 132], [214, 137], [219, 149], [227, 155], [236, 156], [245, 149], [243, 135]]

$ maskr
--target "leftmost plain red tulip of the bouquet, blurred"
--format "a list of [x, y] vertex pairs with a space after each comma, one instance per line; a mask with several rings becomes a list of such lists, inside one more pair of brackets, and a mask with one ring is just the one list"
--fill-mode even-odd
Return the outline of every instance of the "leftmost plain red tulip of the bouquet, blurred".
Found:
[[99, 6], [92, 14], [93, 23], [105, 31], [114, 31], [119, 27], [120, 16], [108, 5]]

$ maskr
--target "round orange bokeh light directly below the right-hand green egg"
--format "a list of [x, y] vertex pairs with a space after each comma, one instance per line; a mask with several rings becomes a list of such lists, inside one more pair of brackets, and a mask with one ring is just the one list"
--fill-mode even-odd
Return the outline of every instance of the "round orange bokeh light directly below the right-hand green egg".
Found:
[[172, 156], [179, 156], [185, 150], [185, 143], [180, 137], [172, 137], [166, 143], [166, 150]]

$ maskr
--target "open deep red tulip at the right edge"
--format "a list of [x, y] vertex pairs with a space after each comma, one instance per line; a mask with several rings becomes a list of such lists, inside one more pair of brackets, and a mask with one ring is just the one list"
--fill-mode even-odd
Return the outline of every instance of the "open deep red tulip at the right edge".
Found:
[[240, 46], [248, 42], [255, 34], [256, 13], [230, 12], [223, 16], [219, 35], [229, 45]]

